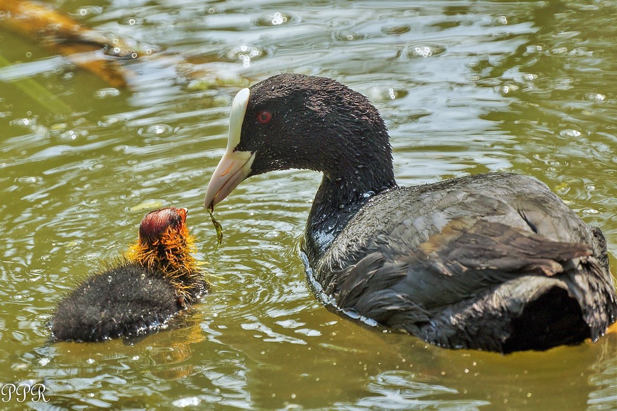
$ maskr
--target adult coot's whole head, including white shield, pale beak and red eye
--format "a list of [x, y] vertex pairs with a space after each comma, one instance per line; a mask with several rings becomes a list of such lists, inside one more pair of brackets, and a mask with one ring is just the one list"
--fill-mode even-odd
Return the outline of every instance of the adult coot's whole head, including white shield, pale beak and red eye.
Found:
[[281, 169], [356, 179], [376, 168], [394, 181], [388, 138], [377, 109], [338, 81], [272, 76], [234, 99], [227, 150], [210, 180], [205, 206], [218, 203], [246, 177]]

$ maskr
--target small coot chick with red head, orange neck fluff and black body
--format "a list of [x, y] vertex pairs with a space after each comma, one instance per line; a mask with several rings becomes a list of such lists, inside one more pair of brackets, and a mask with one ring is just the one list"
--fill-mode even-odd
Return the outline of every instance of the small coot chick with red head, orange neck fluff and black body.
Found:
[[186, 208], [148, 213], [139, 239], [117, 265], [94, 274], [58, 304], [56, 341], [102, 341], [167, 327], [208, 289], [191, 254]]

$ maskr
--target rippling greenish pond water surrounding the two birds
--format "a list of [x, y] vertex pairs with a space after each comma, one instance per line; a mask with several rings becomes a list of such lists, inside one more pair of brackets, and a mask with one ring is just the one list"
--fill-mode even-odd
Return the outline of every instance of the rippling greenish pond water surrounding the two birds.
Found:
[[[299, 256], [317, 173], [239, 185], [216, 210], [218, 249], [202, 208], [231, 98], [299, 71], [370, 97], [400, 185], [531, 175], [602, 227], [614, 255], [615, 2], [46, 3], [156, 51], [127, 60], [129, 86], [112, 87], [0, 21], [0, 383], [43, 383], [49, 402], [27, 407], [617, 408], [615, 333], [500, 356], [427, 346], [321, 306]], [[187, 324], [133, 344], [48, 344], [57, 301], [168, 205], [189, 208], [213, 285]]]

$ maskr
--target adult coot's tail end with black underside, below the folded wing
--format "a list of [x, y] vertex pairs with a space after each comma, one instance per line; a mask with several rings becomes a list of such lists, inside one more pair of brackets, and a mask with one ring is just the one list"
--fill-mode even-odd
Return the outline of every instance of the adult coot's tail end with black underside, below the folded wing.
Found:
[[595, 341], [615, 321], [617, 306], [610, 282], [589, 277], [525, 275], [404, 328], [439, 346], [503, 353]]

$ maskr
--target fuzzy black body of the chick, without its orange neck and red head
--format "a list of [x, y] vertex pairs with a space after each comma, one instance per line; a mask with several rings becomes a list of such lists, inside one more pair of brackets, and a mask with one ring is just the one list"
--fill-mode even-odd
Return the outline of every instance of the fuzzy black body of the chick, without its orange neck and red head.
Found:
[[59, 341], [101, 341], [140, 335], [183, 307], [160, 274], [136, 262], [95, 274], [58, 304], [52, 333]]

